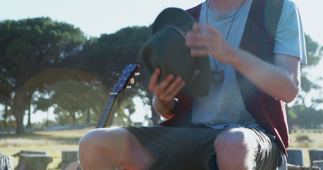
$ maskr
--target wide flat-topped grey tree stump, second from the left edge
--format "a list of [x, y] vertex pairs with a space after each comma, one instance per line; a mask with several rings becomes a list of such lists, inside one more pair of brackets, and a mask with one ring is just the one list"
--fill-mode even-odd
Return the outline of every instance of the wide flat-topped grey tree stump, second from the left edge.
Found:
[[53, 158], [40, 154], [20, 154], [16, 170], [46, 170]]

